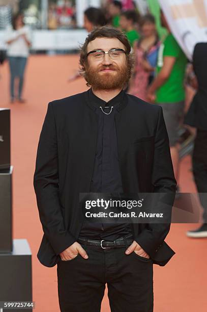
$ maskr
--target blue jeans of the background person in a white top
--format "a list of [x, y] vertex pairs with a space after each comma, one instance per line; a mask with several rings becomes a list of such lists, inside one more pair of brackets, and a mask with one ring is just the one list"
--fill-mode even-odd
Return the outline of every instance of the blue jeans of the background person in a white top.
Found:
[[14, 82], [15, 78], [19, 79], [18, 98], [21, 98], [23, 82], [24, 82], [24, 69], [26, 66], [26, 57], [8, 57], [10, 67], [10, 95], [15, 97]]

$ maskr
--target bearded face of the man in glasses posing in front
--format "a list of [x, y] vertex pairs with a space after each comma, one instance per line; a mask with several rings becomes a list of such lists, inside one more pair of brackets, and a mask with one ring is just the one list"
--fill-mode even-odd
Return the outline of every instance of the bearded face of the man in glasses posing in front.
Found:
[[[108, 52], [112, 48], [126, 49], [119, 39], [96, 38], [88, 43], [87, 53], [97, 49]], [[85, 74], [88, 83], [94, 90], [122, 88], [128, 77], [126, 55], [122, 53], [114, 60], [105, 54], [104, 58], [96, 60], [93, 58], [93, 54], [90, 54], [85, 64]]]

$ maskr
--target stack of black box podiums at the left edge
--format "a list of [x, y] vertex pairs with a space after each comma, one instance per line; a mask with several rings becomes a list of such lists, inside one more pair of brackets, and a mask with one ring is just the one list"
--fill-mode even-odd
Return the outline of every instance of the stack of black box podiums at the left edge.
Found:
[[10, 109], [0, 108], [0, 301], [32, 301], [32, 253], [25, 239], [13, 239], [12, 174]]

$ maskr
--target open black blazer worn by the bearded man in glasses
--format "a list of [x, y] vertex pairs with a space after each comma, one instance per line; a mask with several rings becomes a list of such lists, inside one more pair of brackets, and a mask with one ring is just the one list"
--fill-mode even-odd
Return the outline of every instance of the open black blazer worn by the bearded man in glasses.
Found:
[[[39, 261], [53, 267], [79, 235], [79, 193], [90, 192], [98, 132], [88, 91], [49, 102], [37, 150], [34, 188], [44, 235]], [[162, 108], [124, 94], [115, 115], [125, 193], [173, 192], [176, 181]], [[170, 224], [133, 224], [137, 243], [154, 264], [174, 251], [164, 242]]]

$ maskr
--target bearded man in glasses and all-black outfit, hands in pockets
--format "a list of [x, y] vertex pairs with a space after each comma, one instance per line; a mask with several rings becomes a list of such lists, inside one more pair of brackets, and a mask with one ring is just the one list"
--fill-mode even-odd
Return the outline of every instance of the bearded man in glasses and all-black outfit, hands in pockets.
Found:
[[80, 193], [175, 193], [162, 109], [123, 90], [130, 50], [112, 27], [88, 34], [80, 65], [91, 88], [51, 101], [40, 134], [38, 259], [57, 264], [64, 312], [100, 311], [106, 283], [111, 311], [152, 312], [153, 264], [164, 266], [174, 254], [164, 242], [169, 223], [94, 223], [80, 216]]

